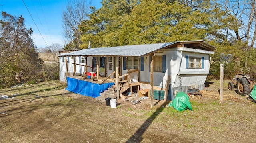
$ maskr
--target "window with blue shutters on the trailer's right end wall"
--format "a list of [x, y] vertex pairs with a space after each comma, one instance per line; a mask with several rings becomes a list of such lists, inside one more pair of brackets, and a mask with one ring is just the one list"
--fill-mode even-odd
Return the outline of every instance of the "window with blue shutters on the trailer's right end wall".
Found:
[[204, 69], [204, 57], [186, 56], [186, 69]]

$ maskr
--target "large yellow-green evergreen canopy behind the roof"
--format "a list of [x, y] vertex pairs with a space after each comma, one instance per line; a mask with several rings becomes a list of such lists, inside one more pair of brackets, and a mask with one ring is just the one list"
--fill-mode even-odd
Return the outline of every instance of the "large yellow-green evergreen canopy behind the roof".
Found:
[[103, 0], [92, 10], [80, 26], [92, 47], [204, 39], [211, 32], [209, 0]]

